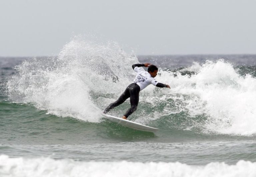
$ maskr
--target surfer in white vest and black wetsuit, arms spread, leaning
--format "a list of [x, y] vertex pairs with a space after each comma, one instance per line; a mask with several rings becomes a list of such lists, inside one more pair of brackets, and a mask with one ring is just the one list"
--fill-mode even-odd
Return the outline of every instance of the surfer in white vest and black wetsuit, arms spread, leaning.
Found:
[[[141, 67], [148, 67], [148, 71], [145, 71]], [[139, 92], [141, 90], [143, 90], [150, 84], [153, 84], [154, 86], [160, 88], [170, 88], [169, 85], [159, 83], [154, 79], [154, 77], [157, 76], [158, 72], [158, 68], [155, 65], [151, 65], [150, 63], [134, 64], [132, 65], [132, 69], [137, 73], [137, 76], [135, 77], [133, 83], [125, 89], [125, 91], [115, 102], [109, 104], [109, 106], [106, 107], [106, 109], [103, 111], [104, 114], [106, 114], [114, 107], [122, 104], [127, 98], [130, 97], [131, 108], [129, 108], [122, 117], [123, 119], [127, 119], [127, 117], [137, 109], [139, 103]]]

